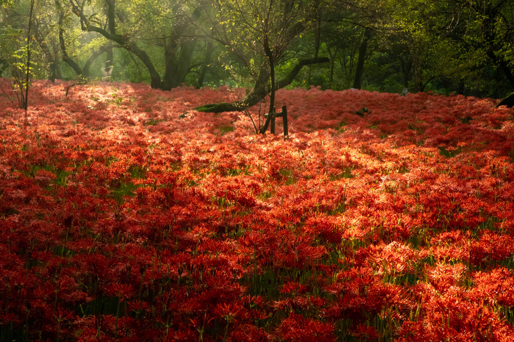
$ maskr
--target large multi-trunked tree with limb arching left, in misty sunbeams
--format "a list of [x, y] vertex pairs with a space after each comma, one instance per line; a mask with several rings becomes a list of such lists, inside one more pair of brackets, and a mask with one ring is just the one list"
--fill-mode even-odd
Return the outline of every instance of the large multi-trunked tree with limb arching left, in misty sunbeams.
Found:
[[[191, 31], [195, 26], [189, 22], [200, 17], [197, 4], [105, 0], [107, 10], [102, 12], [98, 5], [86, 7], [77, 0], [67, 3], [83, 31], [96, 32], [139, 58], [150, 74], [152, 88], [169, 90], [185, 82], [197, 47]], [[145, 43], [144, 49], [140, 42]], [[160, 58], [164, 61], [162, 77], [156, 67]]]

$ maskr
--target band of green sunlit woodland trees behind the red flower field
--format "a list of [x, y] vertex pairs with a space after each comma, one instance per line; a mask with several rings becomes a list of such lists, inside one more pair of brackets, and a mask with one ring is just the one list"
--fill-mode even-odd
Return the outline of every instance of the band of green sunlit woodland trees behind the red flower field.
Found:
[[514, 90], [507, 0], [0, 0], [0, 7], [0, 77], [11, 79], [23, 79], [29, 64], [32, 79], [252, 88], [243, 107], [283, 87], [496, 98]]

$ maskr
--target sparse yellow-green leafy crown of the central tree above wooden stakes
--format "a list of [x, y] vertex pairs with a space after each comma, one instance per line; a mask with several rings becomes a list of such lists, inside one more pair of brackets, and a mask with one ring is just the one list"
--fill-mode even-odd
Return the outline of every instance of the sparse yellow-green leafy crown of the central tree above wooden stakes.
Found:
[[298, 42], [311, 27], [316, 6], [308, 0], [220, 0], [219, 4], [206, 8], [210, 30], [225, 45], [225, 70], [234, 78], [242, 74], [237, 64], [225, 58], [236, 56], [252, 81], [260, 87], [266, 86], [272, 69], [282, 67], [293, 42]]

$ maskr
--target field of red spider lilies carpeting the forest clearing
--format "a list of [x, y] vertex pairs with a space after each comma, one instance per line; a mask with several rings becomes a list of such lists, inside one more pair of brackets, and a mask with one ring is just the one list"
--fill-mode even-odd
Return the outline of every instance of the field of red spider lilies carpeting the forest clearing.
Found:
[[68, 85], [0, 97], [0, 340], [512, 340], [497, 100]]

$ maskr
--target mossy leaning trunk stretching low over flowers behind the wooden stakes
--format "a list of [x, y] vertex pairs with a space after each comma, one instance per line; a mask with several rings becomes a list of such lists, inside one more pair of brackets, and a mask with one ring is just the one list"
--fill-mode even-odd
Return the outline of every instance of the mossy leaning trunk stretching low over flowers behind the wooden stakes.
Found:
[[[296, 75], [298, 75], [298, 73], [304, 66], [311, 65], [311, 64], [328, 63], [328, 62], [330, 62], [330, 60], [326, 57], [302, 59], [289, 72], [289, 74], [285, 78], [281, 79], [280, 81], [278, 81], [276, 83], [275, 90], [284, 88], [285, 86], [288, 86], [289, 84], [291, 84], [293, 79], [295, 79]], [[264, 76], [262, 78], [264, 78]], [[269, 74], [266, 78], [266, 83], [268, 82], [268, 80], [269, 80]], [[233, 103], [222, 102], [222, 103], [208, 104], [208, 105], [196, 107], [196, 108], [194, 108], [194, 110], [197, 110], [199, 112], [208, 112], [208, 113], [243, 111], [243, 110], [248, 109], [248, 108], [258, 104], [259, 102], [261, 102], [261, 100], [263, 98], [265, 98], [266, 95], [268, 95], [268, 93], [270, 91], [271, 91], [270, 84], [263, 86], [263, 83], [258, 80], [256, 82], [253, 90], [249, 94], [247, 94], [245, 97], [243, 97], [242, 99], [240, 99], [236, 102], [233, 102]]]

